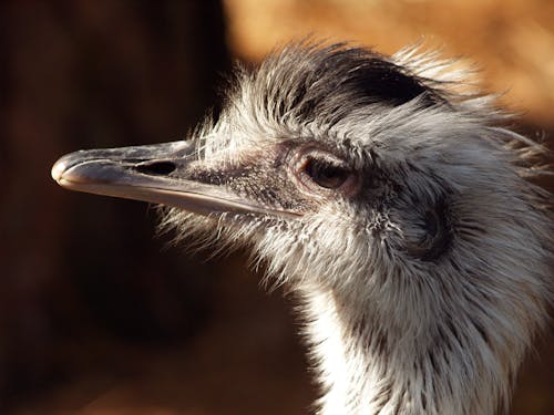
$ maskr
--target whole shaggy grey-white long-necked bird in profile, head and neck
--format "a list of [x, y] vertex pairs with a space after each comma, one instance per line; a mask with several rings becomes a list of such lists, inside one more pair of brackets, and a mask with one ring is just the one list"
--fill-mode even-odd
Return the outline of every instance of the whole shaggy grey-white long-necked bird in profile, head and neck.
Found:
[[191, 139], [52, 176], [250, 247], [300, 302], [318, 414], [503, 414], [552, 301], [551, 195], [526, 179], [541, 146], [464, 76], [417, 49], [289, 44]]

